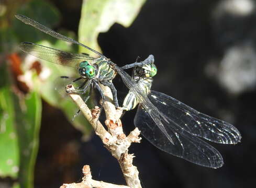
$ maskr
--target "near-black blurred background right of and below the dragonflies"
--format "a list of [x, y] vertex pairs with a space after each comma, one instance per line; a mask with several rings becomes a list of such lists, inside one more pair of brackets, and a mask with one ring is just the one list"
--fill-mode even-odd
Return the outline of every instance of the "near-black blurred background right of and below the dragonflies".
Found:
[[[61, 11], [59, 28], [77, 32], [82, 1], [50, 2]], [[236, 9], [229, 2], [240, 4]], [[153, 90], [232, 123], [242, 135], [236, 146], [212, 144], [224, 158], [220, 169], [168, 155], [142, 138], [130, 153], [143, 187], [255, 186], [256, 10], [244, 3], [256, 5], [249, 0], [149, 0], [131, 27], [115, 24], [99, 35], [104, 55], [120, 66], [153, 54], [158, 66]], [[120, 77], [115, 84], [125, 90]], [[135, 112], [123, 118], [126, 133], [134, 128]], [[94, 135], [82, 142], [81, 137], [62, 112], [43, 103], [35, 187], [80, 182], [84, 164], [91, 166], [95, 180], [125, 184], [101, 140]]]

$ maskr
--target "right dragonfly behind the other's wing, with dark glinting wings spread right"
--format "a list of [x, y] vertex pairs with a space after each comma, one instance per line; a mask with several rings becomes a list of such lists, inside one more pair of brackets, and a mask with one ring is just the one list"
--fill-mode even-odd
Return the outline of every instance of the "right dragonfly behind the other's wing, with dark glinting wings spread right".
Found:
[[[150, 63], [144, 63], [150, 62]], [[136, 95], [130, 90], [123, 102], [123, 109], [129, 111], [139, 105], [134, 123], [141, 134], [155, 147], [190, 162], [210, 168], [219, 168], [224, 162], [219, 151], [200, 139], [219, 144], [237, 144], [241, 135], [230, 123], [205, 115], [164, 93], [151, 90], [153, 76], [157, 75], [154, 56], [144, 60], [142, 66], [133, 67], [133, 79], [143, 88], [152, 104], [166, 120], [163, 126], [173, 143], [162, 133], [148, 111], [143, 108]], [[122, 67], [127, 69], [132, 65]]]

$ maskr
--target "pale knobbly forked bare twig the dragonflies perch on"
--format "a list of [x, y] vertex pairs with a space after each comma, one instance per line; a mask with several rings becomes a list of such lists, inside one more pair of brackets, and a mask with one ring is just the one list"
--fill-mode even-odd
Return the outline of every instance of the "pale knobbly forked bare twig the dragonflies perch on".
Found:
[[[66, 87], [66, 91], [71, 97], [71, 99], [77, 104], [79, 109], [84, 114], [85, 118], [94, 128], [95, 133], [102, 139], [105, 147], [111, 152], [112, 156], [114, 156], [119, 164], [120, 168], [124, 174], [124, 178], [126, 183], [131, 188], [141, 188], [140, 180], [139, 180], [139, 172], [137, 167], [133, 166], [132, 159], [135, 157], [133, 154], [128, 154], [128, 148], [131, 143], [139, 143], [140, 139], [139, 134], [140, 131], [138, 128], [135, 128], [127, 137], [123, 132], [122, 123], [120, 121], [120, 116], [122, 114], [122, 110], [116, 109], [114, 104], [112, 103], [113, 97], [112, 92], [106, 86], [100, 85], [106, 100], [104, 101], [103, 108], [106, 113], [106, 121], [105, 124], [108, 127], [108, 131], [105, 130], [104, 126], [101, 122], [98, 121], [99, 108], [95, 107], [95, 109], [90, 110], [87, 105], [84, 103], [80, 95], [72, 94], [74, 87], [72, 85], [68, 85]], [[87, 170], [85, 168], [88, 168]], [[84, 166], [84, 172], [90, 172], [90, 167]], [[114, 185], [105, 182], [99, 182], [92, 180], [91, 172], [85, 174], [85, 178], [81, 183], [72, 183], [72, 184], [63, 184], [61, 188], [74, 188], [74, 187], [100, 187], [100, 188], [128, 188], [125, 185]], [[85, 181], [86, 180], [86, 181]], [[85, 183], [87, 182], [87, 183]]]

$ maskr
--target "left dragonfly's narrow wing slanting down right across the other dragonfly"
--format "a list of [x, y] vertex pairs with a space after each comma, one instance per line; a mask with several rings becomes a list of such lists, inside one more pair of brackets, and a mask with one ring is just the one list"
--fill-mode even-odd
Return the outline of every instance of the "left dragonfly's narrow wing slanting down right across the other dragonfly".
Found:
[[173, 143], [171, 136], [166, 132], [165, 127], [162, 122], [168, 122], [164, 115], [159, 112], [159, 110], [151, 103], [148, 97], [144, 94], [140, 85], [133, 80], [123, 69], [116, 66], [114, 63], [112, 65], [115, 67], [117, 73], [121, 76], [124, 81], [124, 84], [132, 91], [138, 101], [143, 105], [143, 108], [148, 112], [152, 121], [158, 126], [163, 135], [169, 140], [170, 143]]

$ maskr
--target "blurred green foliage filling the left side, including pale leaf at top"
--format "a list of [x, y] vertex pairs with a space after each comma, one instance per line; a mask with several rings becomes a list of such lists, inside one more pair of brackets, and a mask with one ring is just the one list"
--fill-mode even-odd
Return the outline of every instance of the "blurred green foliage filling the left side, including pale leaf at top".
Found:
[[[115, 22], [128, 27], [144, 2], [83, 1], [79, 41], [100, 51], [97, 44], [99, 32], [106, 32]], [[72, 53], [84, 52], [85, 49], [79, 50], [79, 46], [54, 39], [27, 26], [15, 19], [14, 14], [26, 15], [49, 28], [58, 26], [61, 15], [47, 1], [0, 2], [0, 178], [11, 177], [14, 180], [13, 187], [30, 188], [34, 184], [34, 166], [39, 146], [41, 98], [60, 108], [85, 136], [90, 135], [92, 128], [83, 116], [71, 121], [77, 107], [62, 92], [70, 80], [57, 79], [59, 76], [77, 76], [76, 69], [21, 53], [18, 43], [29, 41]], [[58, 32], [76, 38], [71, 31]]]

